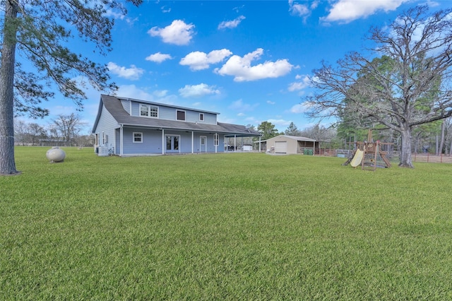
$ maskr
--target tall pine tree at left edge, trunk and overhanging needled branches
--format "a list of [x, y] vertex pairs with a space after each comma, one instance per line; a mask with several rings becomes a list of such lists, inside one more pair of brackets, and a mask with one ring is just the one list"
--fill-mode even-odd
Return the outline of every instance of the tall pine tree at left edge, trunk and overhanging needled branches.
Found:
[[[142, 0], [127, 0], [134, 5]], [[41, 103], [54, 87], [83, 108], [85, 93], [73, 78], [83, 76], [98, 90], [115, 90], [105, 64], [77, 54], [72, 39], [93, 45], [105, 55], [111, 50], [113, 9], [125, 14], [120, 0], [1, 0], [0, 39], [0, 175], [17, 174], [14, 160], [14, 116], [43, 117]], [[26, 62], [27, 68], [23, 67]], [[31, 69], [30, 69], [31, 66]]]

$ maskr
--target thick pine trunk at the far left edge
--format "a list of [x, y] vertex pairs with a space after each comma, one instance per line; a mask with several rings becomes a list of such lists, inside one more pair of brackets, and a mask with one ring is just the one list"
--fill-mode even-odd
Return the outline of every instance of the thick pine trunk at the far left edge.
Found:
[[0, 175], [14, 175], [14, 64], [18, 8], [14, 1], [5, 1], [3, 47], [0, 66]]

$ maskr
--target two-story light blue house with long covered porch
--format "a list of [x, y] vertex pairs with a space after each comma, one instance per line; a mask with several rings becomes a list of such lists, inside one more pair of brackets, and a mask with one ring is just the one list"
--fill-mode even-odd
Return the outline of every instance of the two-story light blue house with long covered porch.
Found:
[[93, 126], [99, 155], [224, 152], [225, 137], [261, 136], [217, 112], [101, 95]]

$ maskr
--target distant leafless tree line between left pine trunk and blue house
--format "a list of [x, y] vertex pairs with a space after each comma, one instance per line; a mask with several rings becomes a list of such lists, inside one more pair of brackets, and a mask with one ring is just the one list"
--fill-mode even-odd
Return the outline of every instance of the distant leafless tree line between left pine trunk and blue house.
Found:
[[81, 134], [85, 123], [78, 114], [60, 114], [47, 126], [33, 122], [14, 121], [14, 136], [18, 146], [93, 146], [92, 134]]

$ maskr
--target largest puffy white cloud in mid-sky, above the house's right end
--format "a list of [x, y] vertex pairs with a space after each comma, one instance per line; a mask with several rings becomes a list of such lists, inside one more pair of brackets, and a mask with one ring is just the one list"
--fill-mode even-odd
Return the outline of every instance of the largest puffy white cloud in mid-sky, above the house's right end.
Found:
[[285, 76], [294, 67], [287, 59], [265, 61], [263, 64], [251, 66], [251, 62], [259, 59], [262, 54], [263, 49], [258, 48], [254, 52], [245, 54], [244, 57], [233, 55], [220, 69], [215, 69], [215, 73], [221, 76], [234, 76], [234, 81], [257, 81], [263, 78]]

